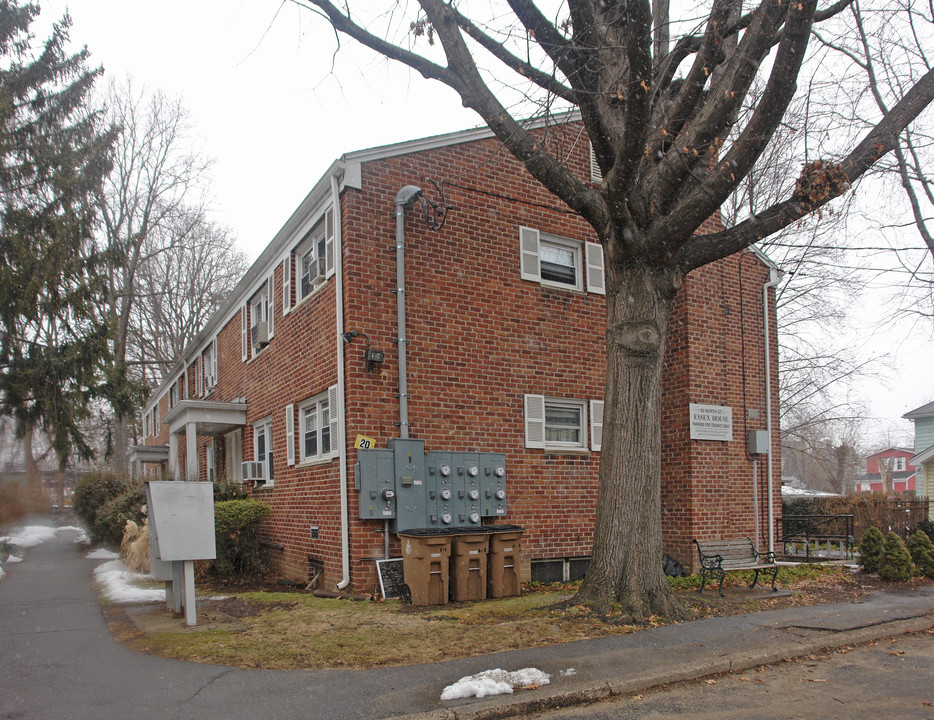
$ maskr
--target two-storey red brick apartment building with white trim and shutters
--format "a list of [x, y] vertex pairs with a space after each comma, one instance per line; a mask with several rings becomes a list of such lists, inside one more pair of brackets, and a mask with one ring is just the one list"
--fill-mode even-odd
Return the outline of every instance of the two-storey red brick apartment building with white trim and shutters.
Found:
[[[591, 177], [578, 125], [552, 127], [546, 141]], [[397, 227], [407, 186], [434, 200], [440, 188], [450, 206], [443, 226], [415, 200]], [[717, 227], [713, 219], [707, 229]], [[344, 155], [152, 395], [135, 467], [149, 477], [246, 480], [272, 507], [265, 534], [277, 572], [369, 590], [375, 559], [399, 555], [393, 530], [404, 521], [381, 519], [379, 507], [389, 515], [392, 504], [379, 505], [382, 497], [375, 514], [364, 512], [377, 493], [366, 478], [361, 485], [356, 463], [366, 453], [354, 446], [358, 436], [379, 449], [408, 436], [428, 453], [416, 458], [430, 465], [426, 482], [437, 471], [432, 453], [467, 465], [477, 453], [497, 466], [505, 500], [480, 514], [525, 528], [524, 579], [578, 574], [590, 552], [604, 386], [595, 241], [485, 129]], [[780, 514], [780, 482], [747, 447], [748, 432], [767, 429], [777, 447], [768, 285], [777, 276], [752, 251], [696, 270], [671, 319], [662, 524], [666, 552], [688, 568], [692, 538], [754, 536], [765, 546], [769, 512]], [[692, 408], [721, 416], [716, 439], [697, 439], [705, 431], [692, 426]], [[435, 490], [420, 492], [430, 493], [425, 517], [447, 520]], [[460, 510], [454, 524], [477, 522]]]

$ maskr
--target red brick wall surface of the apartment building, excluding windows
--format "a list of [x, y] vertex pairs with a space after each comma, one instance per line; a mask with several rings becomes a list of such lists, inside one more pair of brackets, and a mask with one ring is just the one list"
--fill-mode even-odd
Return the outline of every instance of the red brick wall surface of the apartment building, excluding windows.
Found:
[[[586, 177], [586, 141], [576, 133], [557, 133], [549, 142], [574, 158]], [[372, 346], [386, 353], [382, 367], [368, 372], [363, 337], [343, 350], [351, 578], [357, 590], [375, 584], [373, 558], [383, 555], [383, 536], [381, 523], [356, 519], [352, 444], [359, 433], [382, 447], [400, 433], [393, 203], [407, 184], [436, 197], [427, 178], [445, 183], [444, 200], [453, 209], [440, 231], [426, 228], [418, 205], [405, 216], [409, 434], [424, 440], [426, 450], [506, 454], [509, 515], [504, 520], [526, 528], [526, 576], [531, 559], [590, 551], [600, 454], [526, 449], [523, 395], [602, 399], [605, 302], [598, 294], [521, 280], [518, 237], [525, 225], [574, 239], [596, 238], [498, 143], [477, 141], [367, 163], [363, 189], [342, 196], [344, 329], [366, 333]], [[715, 222], [707, 227], [713, 229]], [[248, 423], [271, 415], [275, 484], [255, 495], [273, 508], [267, 539], [284, 546], [271, 551], [272, 560], [279, 573], [298, 578], [307, 577], [309, 559], [320, 561], [323, 583], [332, 587], [341, 577], [338, 461], [286, 466], [284, 408], [336, 382], [335, 282], [283, 316], [281, 267], [275, 275], [275, 337], [256, 358], [241, 362], [240, 316], [235, 315], [218, 336], [218, 385], [211, 399], [246, 397]], [[671, 318], [662, 526], [667, 551], [685, 565], [692, 562], [693, 537], [754, 532], [745, 431], [765, 427], [761, 298], [767, 275], [751, 254], [695, 271]], [[772, 332], [774, 373], [774, 317]], [[190, 382], [193, 392], [193, 377]], [[691, 441], [691, 402], [730, 405], [733, 442]], [[750, 417], [750, 410], [757, 417]], [[777, 438], [777, 382], [773, 410]], [[199, 441], [202, 470], [208, 441]], [[252, 445], [248, 425], [244, 459], [253, 458]], [[183, 439], [180, 446], [183, 454]], [[764, 475], [760, 467], [760, 478]], [[320, 528], [316, 540], [311, 525]], [[762, 535], [765, 541], [764, 524]], [[398, 555], [398, 541], [393, 537], [390, 544]]]

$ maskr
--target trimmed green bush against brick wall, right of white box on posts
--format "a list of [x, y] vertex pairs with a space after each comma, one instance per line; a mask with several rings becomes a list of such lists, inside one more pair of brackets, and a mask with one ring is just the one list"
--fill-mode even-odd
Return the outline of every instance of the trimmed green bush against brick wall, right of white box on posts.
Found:
[[263, 573], [259, 528], [269, 517], [269, 506], [258, 500], [224, 500], [214, 503], [217, 559], [212, 572], [234, 580]]

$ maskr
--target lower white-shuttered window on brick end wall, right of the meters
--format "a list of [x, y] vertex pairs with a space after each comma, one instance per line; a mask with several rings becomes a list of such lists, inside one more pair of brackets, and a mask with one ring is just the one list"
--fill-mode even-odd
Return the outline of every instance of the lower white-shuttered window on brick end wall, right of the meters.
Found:
[[[603, 441], [603, 401], [525, 395], [525, 446], [543, 450], [599, 451]], [[589, 411], [589, 413], [588, 413]], [[588, 417], [589, 414], [589, 417]]]

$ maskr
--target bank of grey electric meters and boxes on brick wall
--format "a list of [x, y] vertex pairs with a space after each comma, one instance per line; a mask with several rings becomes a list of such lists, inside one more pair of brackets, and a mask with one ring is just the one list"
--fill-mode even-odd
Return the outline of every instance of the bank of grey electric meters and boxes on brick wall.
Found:
[[361, 520], [389, 520], [392, 530], [479, 526], [507, 509], [503, 453], [425, 453], [422, 440], [390, 440], [360, 450], [355, 467]]

